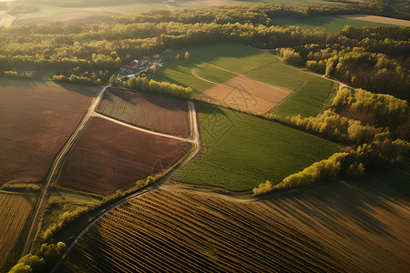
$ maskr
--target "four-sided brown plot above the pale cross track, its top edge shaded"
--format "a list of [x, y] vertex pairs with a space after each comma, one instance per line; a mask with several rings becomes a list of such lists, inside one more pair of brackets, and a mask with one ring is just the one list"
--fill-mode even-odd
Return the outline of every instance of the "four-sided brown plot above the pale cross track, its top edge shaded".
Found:
[[169, 96], [108, 88], [96, 111], [155, 132], [190, 136], [190, 112], [187, 102]]

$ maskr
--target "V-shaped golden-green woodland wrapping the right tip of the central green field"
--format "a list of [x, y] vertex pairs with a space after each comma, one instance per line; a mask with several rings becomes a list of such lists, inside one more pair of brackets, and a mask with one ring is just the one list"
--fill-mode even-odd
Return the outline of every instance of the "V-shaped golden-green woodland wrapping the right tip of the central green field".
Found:
[[[300, 115], [288, 116], [282, 121], [341, 142], [346, 147], [343, 152], [335, 153], [299, 173], [285, 177], [277, 185], [273, 185], [271, 181], [261, 183], [253, 189], [253, 194], [261, 195], [275, 189], [308, 185], [329, 177], [362, 176], [368, 171], [397, 164], [409, 156], [410, 143], [397, 138], [398, 133], [391, 134], [384, 125], [408, 131], [408, 112], [405, 100], [343, 88], [334, 97], [331, 109], [322, 114], [306, 118], [301, 118]], [[392, 123], [386, 124], [390, 119]]]

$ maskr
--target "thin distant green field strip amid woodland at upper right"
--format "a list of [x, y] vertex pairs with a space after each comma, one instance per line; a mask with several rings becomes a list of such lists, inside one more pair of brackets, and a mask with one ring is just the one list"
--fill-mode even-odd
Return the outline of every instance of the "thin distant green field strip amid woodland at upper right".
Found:
[[365, 22], [360, 20], [354, 19], [347, 19], [343, 18], [342, 16], [312, 16], [309, 18], [289, 18], [289, 17], [281, 17], [273, 19], [273, 23], [275, 25], [300, 25], [307, 28], [315, 28], [320, 27], [324, 28], [327, 32], [330, 33], [337, 33], [338, 31], [342, 30], [344, 25], [352, 25], [354, 27], [364, 27], [364, 26], [380, 26], [386, 25], [382, 23], [375, 23], [375, 22]]

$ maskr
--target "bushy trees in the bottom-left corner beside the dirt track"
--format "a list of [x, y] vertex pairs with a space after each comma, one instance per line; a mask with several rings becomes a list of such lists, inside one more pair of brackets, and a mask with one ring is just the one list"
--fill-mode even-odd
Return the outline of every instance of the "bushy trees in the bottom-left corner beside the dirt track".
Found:
[[66, 244], [43, 244], [36, 255], [27, 254], [20, 258], [17, 264], [11, 268], [10, 273], [39, 273], [49, 270], [57, 259], [66, 251]]

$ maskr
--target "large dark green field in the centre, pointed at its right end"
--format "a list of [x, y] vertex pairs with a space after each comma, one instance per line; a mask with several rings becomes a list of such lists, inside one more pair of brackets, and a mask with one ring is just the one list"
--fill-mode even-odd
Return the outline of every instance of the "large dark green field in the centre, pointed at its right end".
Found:
[[179, 182], [251, 190], [267, 179], [279, 183], [340, 148], [256, 116], [205, 103], [197, 107], [204, 150], [173, 177]]

